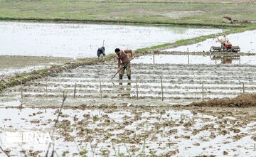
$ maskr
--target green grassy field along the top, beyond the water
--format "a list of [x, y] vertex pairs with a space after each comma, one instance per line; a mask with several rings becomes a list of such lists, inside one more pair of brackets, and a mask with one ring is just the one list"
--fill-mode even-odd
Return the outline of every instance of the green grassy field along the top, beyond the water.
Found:
[[[123, 2], [83, 0], [0, 0], [0, 19], [38, 21], [158, 23], [197, 26], [234, 26], [225, 15], [256, 21], [255, 4]], [[243, 26], [238, 24], [235, 26]]]

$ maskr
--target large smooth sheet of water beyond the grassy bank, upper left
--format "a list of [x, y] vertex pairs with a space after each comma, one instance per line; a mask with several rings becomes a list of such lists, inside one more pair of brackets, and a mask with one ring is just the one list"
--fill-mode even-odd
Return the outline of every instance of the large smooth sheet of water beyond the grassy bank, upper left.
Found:
[[0, 22], [0, 55], [68, 58], [96, 57], [105, 40], [106, 53], [114, 48], [144, 48], [193, 38], [220, 29], [100, 24]]

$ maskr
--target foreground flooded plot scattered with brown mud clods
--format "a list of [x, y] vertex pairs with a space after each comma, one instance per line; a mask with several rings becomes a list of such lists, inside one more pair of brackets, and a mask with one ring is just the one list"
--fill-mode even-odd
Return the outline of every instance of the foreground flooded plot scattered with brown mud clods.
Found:
[[133, 156], [255, 156], [256, 123], [246, 109], [63, 109], [54, 138], [57, 109], [0, 112], [6, 113], [0, 115], [1, 147], [13, 156], [45, 156], [53, 139], [58, 156], [82, 150], [87, 156], [116, 156], [114, 150]]

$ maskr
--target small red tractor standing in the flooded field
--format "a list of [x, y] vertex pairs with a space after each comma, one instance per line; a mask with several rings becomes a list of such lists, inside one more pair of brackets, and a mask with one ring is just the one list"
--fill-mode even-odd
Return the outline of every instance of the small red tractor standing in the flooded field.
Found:
[[217, 36], [215, 36], [214, 38], [217, 38], [218, 41], [220, 41], [221, 46], [210, 47], [210, 52], [232, 52], [232, 53], [240, 52], [239, 46], [233, 46], [232, 43], [230, 43], [225, 36], [221, 40]]

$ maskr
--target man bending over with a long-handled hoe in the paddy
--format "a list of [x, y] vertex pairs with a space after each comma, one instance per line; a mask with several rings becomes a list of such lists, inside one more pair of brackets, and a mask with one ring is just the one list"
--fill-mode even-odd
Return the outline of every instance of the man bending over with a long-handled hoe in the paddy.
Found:
[[119, 71], [119, 80], [122, 80], [122, 77], [124, 75], [124, 70], [127, 70], [128, 80], [131, 80], [131, 63], [129, 63], [130, 60], [129, 60], [128, 53], [130, 53], [132, 59], [134, 59], [135, 58], [134, 51], [133, 50], [120, 50], [119, 48], [116, 48], [114, 50], [114, 52], [117, 54], [117, 60], [118, 60], [117, 71], [120, 70]]

